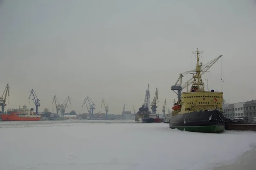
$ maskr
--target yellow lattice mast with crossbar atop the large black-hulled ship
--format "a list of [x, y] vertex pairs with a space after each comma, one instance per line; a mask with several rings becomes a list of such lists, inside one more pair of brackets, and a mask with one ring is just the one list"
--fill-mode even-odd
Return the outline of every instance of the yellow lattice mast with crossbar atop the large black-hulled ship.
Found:
[[198, 91], [198, 92], [204, 92], [204, 83], [201, 78], [201, 66], [202, 63], [199, 65], [199, 54], [202, 54], [203, 52], [198, 51], [198, 48], [196, 52], [192, 52], [193, 54], [196, 54], [197, 57], [197, 65], [195, 72], [196, 74], [194, 75], [194, 82], [192, 84], [191, 90]]

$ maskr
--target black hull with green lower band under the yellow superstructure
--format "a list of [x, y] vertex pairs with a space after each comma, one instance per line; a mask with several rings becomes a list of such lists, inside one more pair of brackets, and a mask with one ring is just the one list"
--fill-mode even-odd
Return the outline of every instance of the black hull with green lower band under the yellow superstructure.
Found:
[[202, 133], [221, 133], [225, 130], [223, 112], [209, 110], [178, 114], [169, 118], [171, 129]]

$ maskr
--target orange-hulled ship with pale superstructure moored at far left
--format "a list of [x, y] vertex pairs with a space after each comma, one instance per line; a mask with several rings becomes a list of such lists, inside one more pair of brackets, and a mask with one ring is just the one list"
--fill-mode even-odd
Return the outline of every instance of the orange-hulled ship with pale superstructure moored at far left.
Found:
[[11, 114], [1, 115], [2, 121], [40, 121], [41, 116], [35, 115], [34, 109], [28, 109], [26, 105], [19, 108], [18, 112], [11, 112]]

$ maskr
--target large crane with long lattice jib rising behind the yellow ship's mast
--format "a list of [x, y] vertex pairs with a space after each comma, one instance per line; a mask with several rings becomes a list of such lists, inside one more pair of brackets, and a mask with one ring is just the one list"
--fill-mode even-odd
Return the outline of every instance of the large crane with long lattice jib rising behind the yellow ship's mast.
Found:
[[[207, 63], [206, 65], [204, 65], [204, 66], [201, 66], [201, 75], [203, 75], [204, 73], [206, 73], [207, 72], [207, 70], [209, 69], [209, 68], [211, 68], [211, 66], [214, 64], [214, 63], [216, 63], [217, 61], [218, 61], [218, 59], [220, 59], [221, 57], [222, 57], [223, 55], [220, 55], [220, 56], [218, 56], [217, 58], [215, 58], [214, 60], [212, 60], [212, 61], [210, 61], [209, 63]], [[201, 63], [202, 64], [202, 63]], [[187, 71], [187, 72], [184, 72], [184, 73], [181, 73], [180, 74], [180, 76], [179, 76], [179, 78], [178, 78], [178, 80], [176, 81], [176, 83], [173, 85], [173, 86], [171, 86], [171, 90], [172, 91], [174, 91], [175, 92], [175, 90], [177, 90], [177, 95], [178, 95], [178, 101], [180, 101], [180, 99], [181, 99], [181, 91], [183, 90], [183, 89], [185, 89], [187, 86], [190, 86], [193, 82], [194, 82], [194, 76], [192, 77], [192, 78], [190, 78], [187, 82], [186, 82], [186, 84], [184, 84], [183, 86], [182, 86], [182, 77], [183, 77], [183, 75], [185, 75], [185, 74], [188, 74], [188, 73], [192, 73], [192, 72], [195, 72], [195, 69], [193, 69], [193, 70], [190, 70], [190, 71]], [[178, 84], [178, 82], [180, 81], [180, 84]]]

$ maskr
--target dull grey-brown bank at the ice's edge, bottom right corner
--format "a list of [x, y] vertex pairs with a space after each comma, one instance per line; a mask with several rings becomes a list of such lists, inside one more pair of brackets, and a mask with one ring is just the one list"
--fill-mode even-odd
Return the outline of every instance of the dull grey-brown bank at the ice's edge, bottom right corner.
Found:
[[233, 164], [215, 167], [213, 170], [255, 170], [256, 148], [246, 151]]

